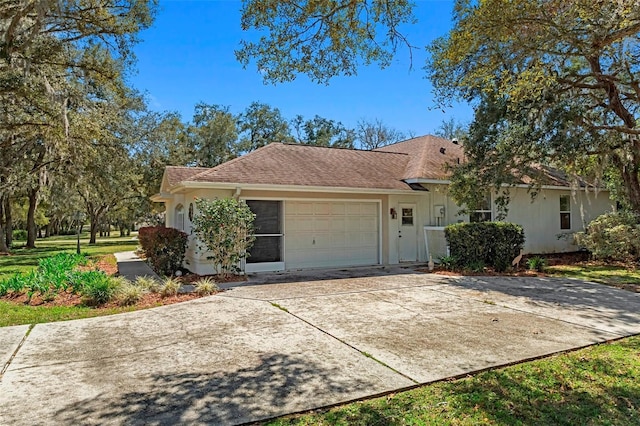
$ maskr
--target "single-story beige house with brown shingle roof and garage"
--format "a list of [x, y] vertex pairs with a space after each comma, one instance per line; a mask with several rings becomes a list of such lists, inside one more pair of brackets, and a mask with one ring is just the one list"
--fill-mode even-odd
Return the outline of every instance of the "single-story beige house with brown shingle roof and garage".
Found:
[[[456, 164], [456, 141], [423, 136], [373, 151], [272, 143], [214, 168], [167, 167], [160, 193], [166, 226], [190, 233], [196, 198], [236, 197], [256, 214], [246, 272], [387, 265], [446, 254], [444, 226], [494, 220], [481, 210], [459, 214], [444, 165]], [[527, 185], [512, 189], [507, 221], [524, 227], [528, 253], [573, 251], [571, 238], [612, 210], [609, 193], [572, 191], [555, 176], [532, 202]], [[213, 272], [190, 239], [188, 268]]]

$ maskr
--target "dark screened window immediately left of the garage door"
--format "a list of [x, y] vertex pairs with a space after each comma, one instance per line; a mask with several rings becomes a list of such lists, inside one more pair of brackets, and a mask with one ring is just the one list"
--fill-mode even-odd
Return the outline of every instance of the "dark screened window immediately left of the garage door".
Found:
[[253, 222], [256, 240], [247, 263], [282, 262], [282, 202], [247, 200], [256, 215]]

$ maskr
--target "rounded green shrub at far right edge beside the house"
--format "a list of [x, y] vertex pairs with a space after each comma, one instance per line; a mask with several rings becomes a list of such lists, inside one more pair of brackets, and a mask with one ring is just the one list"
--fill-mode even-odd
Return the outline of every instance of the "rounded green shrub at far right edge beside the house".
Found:
[[640, 217], [632, 212], [611, 212], [595, 218], [576, 241], [596, 259], [640, 260]]

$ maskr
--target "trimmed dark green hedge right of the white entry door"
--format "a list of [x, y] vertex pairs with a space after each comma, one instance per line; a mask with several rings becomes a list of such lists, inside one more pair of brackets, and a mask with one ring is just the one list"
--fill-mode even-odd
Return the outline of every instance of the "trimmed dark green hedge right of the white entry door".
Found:
[[444, 229], [454, 266], [492, 266], [505, 271], [524, 246], [522, 226], [506, 222], [457, 223]]

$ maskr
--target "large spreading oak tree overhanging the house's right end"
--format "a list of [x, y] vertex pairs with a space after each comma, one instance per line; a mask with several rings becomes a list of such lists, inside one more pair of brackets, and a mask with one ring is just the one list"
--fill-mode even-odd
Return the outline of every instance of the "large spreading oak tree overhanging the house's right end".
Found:
[[[500, 10], [500, 13], [496, 13]], [[637, 1], [457, 0], [427, 65], [439, 101], [475, 102], [460, 186], [542, 183], [538, 164], [613, 173], [640, 212]], [[470, 185], [466, 185], [470, 187]]]

